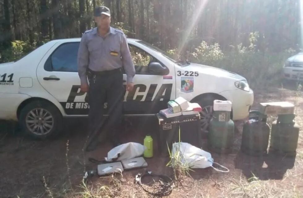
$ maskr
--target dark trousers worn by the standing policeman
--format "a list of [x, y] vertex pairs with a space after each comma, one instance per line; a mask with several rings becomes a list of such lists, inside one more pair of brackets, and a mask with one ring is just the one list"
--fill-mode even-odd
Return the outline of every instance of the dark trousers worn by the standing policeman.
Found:
[[[121, 69], [104, 72], [88, 71], [89, 140], [88, 144], [103, 138], [115, 144], [119, 141], [125, 87]], [[104, 103], [107, 102], [105, 109]], [[104, 116], [108, 115], [108, 116]], [[103, 140], [101, 140], [103, 141]]]

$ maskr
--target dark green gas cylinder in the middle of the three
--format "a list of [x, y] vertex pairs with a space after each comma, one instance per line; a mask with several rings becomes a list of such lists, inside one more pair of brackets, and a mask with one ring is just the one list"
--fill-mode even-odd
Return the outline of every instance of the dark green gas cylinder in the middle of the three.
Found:
[[248, 121], [243, 125], [241, 151], [248, 155], [267, 153], [270, 127], [267, 115], [260, 111], [250, 111]]

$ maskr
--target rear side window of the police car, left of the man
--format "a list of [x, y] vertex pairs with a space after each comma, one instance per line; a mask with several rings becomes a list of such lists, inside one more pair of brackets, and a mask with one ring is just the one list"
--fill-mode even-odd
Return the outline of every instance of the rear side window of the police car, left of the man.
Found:
[[50, 56], [52, 71], [77, 72], [77, 55], [79, 42], [64, 43]]

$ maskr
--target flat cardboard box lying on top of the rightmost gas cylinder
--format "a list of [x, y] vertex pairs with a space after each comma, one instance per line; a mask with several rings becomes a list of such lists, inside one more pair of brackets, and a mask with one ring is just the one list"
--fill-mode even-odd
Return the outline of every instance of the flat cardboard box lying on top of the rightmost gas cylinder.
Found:
[[260, 112], [265, 115], [294, 114], [295, 105], [290, 102], [264, 102], [260, 103]]

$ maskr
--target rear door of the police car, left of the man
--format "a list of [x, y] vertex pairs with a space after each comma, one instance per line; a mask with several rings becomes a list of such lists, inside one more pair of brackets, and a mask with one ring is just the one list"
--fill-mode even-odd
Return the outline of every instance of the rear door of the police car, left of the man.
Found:
[[88, 114], [87, 94], [80, 92], [77, 54], [80, 42], [58, 43], [37, 68], [40, 84], [55, 97], [67, 115]]

